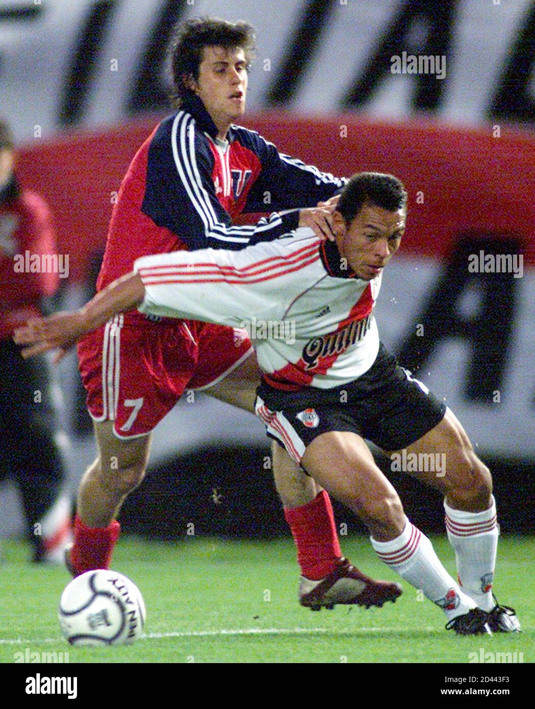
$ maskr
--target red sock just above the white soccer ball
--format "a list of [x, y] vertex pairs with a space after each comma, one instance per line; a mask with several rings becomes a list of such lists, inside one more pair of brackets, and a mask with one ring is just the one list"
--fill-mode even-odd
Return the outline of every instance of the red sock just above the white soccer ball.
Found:
[[119, 533], [117, 520], [113, 520], [108, 527], [86, 527], [76, 515], [71, 563], [77, 575], [93, 569], [108, 569]]

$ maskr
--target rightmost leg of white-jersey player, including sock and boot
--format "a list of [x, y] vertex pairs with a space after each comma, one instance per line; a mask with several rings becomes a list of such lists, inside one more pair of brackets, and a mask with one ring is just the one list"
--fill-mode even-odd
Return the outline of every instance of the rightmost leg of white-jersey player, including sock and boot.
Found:
[[461, 588], [490, 613], [492, 630], [518, 632], [514, 609], [499, 605], [492, 595], [499, 532], [488, 468], [449, 409], [437, 426], [407, 446], [407, 456], [413, 453], [422, 464], [410, 474], [444, 494], [446, 528]]

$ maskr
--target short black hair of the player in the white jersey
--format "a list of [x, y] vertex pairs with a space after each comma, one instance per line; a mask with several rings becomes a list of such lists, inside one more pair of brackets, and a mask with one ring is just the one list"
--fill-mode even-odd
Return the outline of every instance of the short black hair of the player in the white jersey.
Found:
[[400, 179], [382, 172], [359, 172], [353, 175], [342, 190], [337, 211], [349, 226], [365, 202], [377, 207], [398, 211], [407, 209], [407, 192]]

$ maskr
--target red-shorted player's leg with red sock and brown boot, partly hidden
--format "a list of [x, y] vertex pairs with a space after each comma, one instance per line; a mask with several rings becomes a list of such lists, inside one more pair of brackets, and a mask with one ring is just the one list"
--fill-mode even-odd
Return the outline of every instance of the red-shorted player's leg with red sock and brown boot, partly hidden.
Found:
[[[254, 413], [260, 376], [252, 354], [205, 393]], [[370, 579], [342, 557], [329, 496], [276, 443], [273, 472], [298, 550], [301, 605], [319, 610], [333, 608], [336, 603], [368, 606], [395, 601], [401, 593], [398, 584]]]

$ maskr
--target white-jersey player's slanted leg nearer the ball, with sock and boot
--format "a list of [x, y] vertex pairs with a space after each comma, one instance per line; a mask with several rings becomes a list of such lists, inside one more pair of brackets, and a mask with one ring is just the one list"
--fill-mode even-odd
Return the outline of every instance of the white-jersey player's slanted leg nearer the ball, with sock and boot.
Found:
[[488, 614], [451, 578], [429, 539], [405, 517], [395, 489], [355, 433], [327, 432], [306, 448], [308, 473], [364, 521], [378, 557], [439, 605], [456, 632], [489, 632]]

